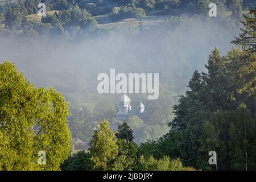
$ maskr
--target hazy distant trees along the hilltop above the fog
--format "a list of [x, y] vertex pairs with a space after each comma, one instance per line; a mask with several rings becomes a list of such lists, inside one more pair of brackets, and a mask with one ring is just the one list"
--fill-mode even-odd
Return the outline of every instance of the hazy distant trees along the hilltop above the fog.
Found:
[[[27, 19], [27, 15], [38, 13], [39, 2], [46, 3], [47, 11], [55, 10], [40, 22]], [[214, 0], [218, 14], [231, 11], [231, 16], [240, 19], [242, 11], [255, 6], [253, 0]], [[18, 34], [20, 36], [68, 36], [71, 38], [86, 36], [96, 27], [94, 15], [108, 15], [110, 20], [141, 18], [150, 10], [163, 10], [159, 15], [179, 14], [208, 15], [209, 0], [20, 0], [6, 1], [0, 5], [0, 35]], [[110, 7], [109, 7], [110, 6]], [[59, 13], [57, 13], [59, 12]], [[71, 21], [74, 20], [74, 21]], [[88, 28], [90, 27], [90, 28]], [[64, 34], [65, 32], [65, 34]], [[68, 34], [68, 35], [66, 35]]]

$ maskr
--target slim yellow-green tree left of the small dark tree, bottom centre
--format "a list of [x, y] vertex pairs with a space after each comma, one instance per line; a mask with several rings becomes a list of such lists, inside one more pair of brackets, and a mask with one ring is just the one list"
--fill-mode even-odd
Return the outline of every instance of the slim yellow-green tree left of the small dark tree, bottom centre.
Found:
[[90, 154], [94, 169], [110, 170], [115, 157], [118, 155], [117, 139], [113, 130], [109, 129], [109, 122], [103, 120], [93, 132], [90, 141]]

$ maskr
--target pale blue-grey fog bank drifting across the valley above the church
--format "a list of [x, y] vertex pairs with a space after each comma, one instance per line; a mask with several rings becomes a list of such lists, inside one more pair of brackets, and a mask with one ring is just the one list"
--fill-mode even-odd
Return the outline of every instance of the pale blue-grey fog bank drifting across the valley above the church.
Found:
[[205, 71], [214, 47], [223, 55], [232, 47], [239, 30], [228, 23], [170, 20], [135, 34], [113, 30], [82, 41], [1, 37], [0, 61], [13, 61], [36, 86], [53, 86], [67, 97], [82, 94], [84, 101], [92, 99], [87, 94], [97, 94], [97, 75], [110, 74], [110, 68], [119, 73], [159, 73], [162, 85], [183, 93], [193, 71]]

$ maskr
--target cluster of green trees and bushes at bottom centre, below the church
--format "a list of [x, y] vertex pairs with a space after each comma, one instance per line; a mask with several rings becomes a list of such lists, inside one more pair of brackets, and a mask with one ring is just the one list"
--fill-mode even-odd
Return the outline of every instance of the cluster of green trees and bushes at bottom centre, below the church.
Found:
[[[120, 127], [129, 129], [127, 123], [122, 123]], [[129, 130], [121, 130], [119, 136], [132, 133]], [[128, 131], [128, 132], [126, 132]], [[120, 135], [127, 133], [126, 135]], [[115, 131], [109, 129], [107, 120], [101, 121], [94, 130], [90, 148], [88, 152], [78, 152], [61, 164], [62, 170], [191, 170], [193, 168], [184, 167], [179, 159], [171, 160], [167, 156], [163, 159], [155, 159], [147, 152], [139, 151], [139, 147], [133, 140], [115, 137]]]

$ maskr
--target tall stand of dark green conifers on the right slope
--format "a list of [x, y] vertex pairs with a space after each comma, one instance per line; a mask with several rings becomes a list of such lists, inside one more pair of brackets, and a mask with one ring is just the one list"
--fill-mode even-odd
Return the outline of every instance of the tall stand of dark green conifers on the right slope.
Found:
[[[221, 56], [214, 48], [205, 68], [195, 71], [189, 90], [174, 106], [168, 134], [141, 144], [143, 156], [180, 158], [186, 166], [213, 169], [208, 152], [217, 152], [219, 170], [254, 170], [255, 166], [255, 10], [245, 16], [245, 28], [232, 49]], [[154, 161], [154, 160], [152, 160]]]

